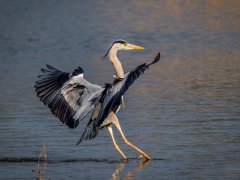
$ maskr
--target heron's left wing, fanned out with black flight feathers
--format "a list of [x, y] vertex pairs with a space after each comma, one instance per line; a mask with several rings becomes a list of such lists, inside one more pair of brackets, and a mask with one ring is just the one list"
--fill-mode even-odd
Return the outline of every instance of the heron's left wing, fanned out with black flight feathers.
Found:
[[34, 86], [38, 97], [69, 128], [76, 128], [95, 107], [103, 88], [85, 80], [80, 67], [66, 73], [47, 65], [41, 71], [44, 74]]

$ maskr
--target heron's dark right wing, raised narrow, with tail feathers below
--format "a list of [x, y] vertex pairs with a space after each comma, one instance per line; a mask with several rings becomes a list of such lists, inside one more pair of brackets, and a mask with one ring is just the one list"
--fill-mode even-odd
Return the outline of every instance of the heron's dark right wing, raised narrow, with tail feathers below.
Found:
[[123, 94], [128, 90], [133, 82], [149, 68], [149, 66], [158, 62], [159, 59], [160, 53], [157, 54], [151, 63], [144, 63], [127, 73], [123, 79], [115, 80], [113, 84], [106, 84], [101, 98], [92, 113], [91, 119], [77, 144], [83, 140], [96, 137], [98, 129], [101, 128], [101, 124], [108, 114], [112, 111], [116, 112], [118, 109]]

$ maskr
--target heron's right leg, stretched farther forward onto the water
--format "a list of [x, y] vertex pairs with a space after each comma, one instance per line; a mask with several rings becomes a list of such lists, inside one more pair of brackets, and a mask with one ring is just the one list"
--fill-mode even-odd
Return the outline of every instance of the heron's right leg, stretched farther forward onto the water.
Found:
[[119, 123], [119, 121], [118, 121], [117, 116], [116, 116], [114, 113], [112, 113], [112, 116], [113, 116], [113, 117], [112, 117], [112, 119], [113, 119], [113, 124], [117, 127], [117, 129], [118, 129], [118, 131], [120, 132], [120, 134], [121, 134], [124, 142], [125, 142], [127, 145], [129, 145], [129, 146], [131, 146], [132, 148], [134, 148], [134, 149], [135, 149], [136, 151], [138, 151], [139, 153], [141, 153], [146, 159], [152, 159], [147, 153], [145, 153], [144, 151], [142, 151], [142, 150], [139, 149], [137, 146], [133, 145], [131, 142], [129, 142], [129, 141], [127, 140], [127, 138], [126, 138], [125, 135], [123, 134], [123, 131], [122, 131], [122, 128], [121, 128], [121, 126], [120, 126], [120, 123]]

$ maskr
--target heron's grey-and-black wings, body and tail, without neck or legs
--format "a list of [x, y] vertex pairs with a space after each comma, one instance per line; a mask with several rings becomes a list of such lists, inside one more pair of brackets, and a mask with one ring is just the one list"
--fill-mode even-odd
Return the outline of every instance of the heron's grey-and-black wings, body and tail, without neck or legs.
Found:
[[108, 125], [105, 118], [110, 112], [116, 112], [121, 98], [133, 82], [146, 69], [160, 59], [160, 53], [150, 64], [142, 64], [130, 71], [122, 79], [116, 79], [105, 87], [91, 84], [83, 78], [83, 70], [76, 69], [73, 73], [59, 71], [49, 65], [42, 69], [45, 75], [39, 76], [35, 90], [40, 100], [51, 109], [69, 128], [76, 128], [79, 121], [90, 112], [91, 118], [77, 144], [97, 136], [99, 129]]

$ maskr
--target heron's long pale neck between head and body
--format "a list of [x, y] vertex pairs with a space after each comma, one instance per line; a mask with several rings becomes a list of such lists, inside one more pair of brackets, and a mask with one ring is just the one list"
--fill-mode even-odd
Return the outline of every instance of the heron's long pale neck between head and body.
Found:
[[114, 68], [115, 68], [116, 76], [118, 78], [124, 78], [124, 71], [123, 71], [123, 68], [122, 68], [122, 64], [117, 57], [117, 50], [115, 50], [114, 48], [112, 48], [109, 51], [109, 59], [112, 62]]

